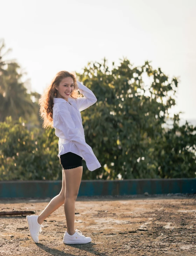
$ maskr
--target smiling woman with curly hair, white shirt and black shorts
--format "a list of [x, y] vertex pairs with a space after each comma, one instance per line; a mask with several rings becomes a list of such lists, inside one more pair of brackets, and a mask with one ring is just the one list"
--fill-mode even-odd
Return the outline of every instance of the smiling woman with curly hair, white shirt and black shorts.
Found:
[[[84, 95], [78, 95], [78, 90]], [[59, 195], [52, 198], [40, 215], [27, 216], [30, 235], [35, 243], [39, 242], [42, 222], [52, 212], [64, 204], [67, 230], [63, 243], [89, 243], [90, 237], [74, 228], [75, 201], [82, 179], [82, 160], [87, 168], [94, 171], [101, 165], [92, 148], [86, 144], [80, 111], [96, 103], [94, 93], [76, 79], [75, 72], [60, 71], [51, 81], [50, 86], [40, 97], [40, 115], [43, 127], [54, 127], [59, 138], [59, 161], [62, 165], [63, 180]]]

